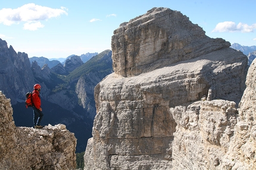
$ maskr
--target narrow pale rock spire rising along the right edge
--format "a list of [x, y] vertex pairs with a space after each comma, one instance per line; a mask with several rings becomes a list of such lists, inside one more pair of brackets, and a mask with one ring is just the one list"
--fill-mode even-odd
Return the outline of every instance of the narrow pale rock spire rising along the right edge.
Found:
[[254, 60], [246, 76], [246, 89], [239, 103], [239, 117], [236, 131], [230, 142], [229, 152], [225, 155], [230, 166], [243, 169], [256, 169], [256, 60]]

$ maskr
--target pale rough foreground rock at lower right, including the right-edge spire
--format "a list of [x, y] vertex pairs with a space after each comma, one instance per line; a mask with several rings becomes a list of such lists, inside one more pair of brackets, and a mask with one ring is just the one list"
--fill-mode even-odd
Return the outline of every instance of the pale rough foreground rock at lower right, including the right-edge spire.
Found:
[[170, 108], [177, 123], [173, 169], [256, 169], [255, 70], [254, 60], [239, 109], [223, 100]]

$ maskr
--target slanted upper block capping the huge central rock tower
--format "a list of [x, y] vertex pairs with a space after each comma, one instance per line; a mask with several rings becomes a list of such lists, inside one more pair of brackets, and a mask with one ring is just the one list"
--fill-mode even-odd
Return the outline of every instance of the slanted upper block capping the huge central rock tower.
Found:
[[114, 31], [113, 69], [122, 76], [139, 75], [229, 47], [178, 11], [153, 8]]

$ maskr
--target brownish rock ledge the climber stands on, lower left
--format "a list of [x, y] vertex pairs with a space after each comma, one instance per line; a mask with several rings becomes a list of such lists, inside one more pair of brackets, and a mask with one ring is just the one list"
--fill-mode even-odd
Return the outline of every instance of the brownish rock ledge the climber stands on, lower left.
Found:
[[0, 169], [75, 169], [76, 137], [64, 124], [15, 127], [10, 99], [0, 91]]

